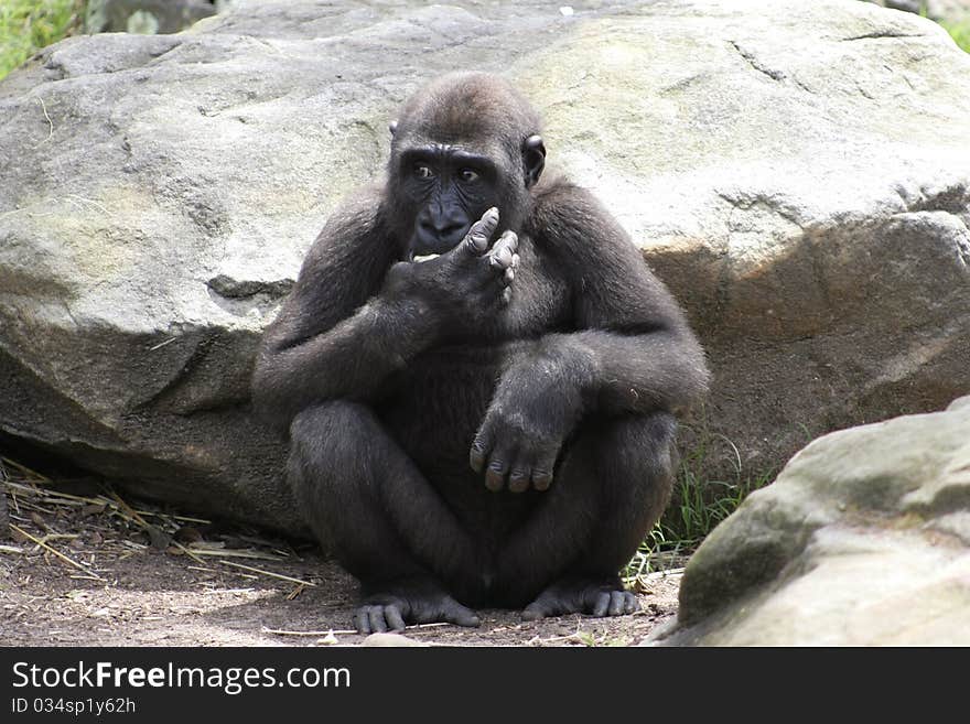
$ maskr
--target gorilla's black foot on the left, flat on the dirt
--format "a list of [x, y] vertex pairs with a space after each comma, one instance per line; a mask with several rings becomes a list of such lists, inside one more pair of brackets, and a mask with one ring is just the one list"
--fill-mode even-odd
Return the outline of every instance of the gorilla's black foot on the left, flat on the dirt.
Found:
[[446, 593], [423, 585], [394, 585], [382, 593], [364, 598], [354, 624], [362, 634], [402, 631], [407, 624], [456, 624], [477, 626], [475, 612], [460, 604]]

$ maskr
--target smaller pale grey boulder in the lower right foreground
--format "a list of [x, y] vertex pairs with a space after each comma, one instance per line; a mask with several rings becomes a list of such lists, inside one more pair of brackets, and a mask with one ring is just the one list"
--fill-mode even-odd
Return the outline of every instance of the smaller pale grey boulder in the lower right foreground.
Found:
[[970, 397], [798, 453], [691, 558], [656, 641], [970, 645]]

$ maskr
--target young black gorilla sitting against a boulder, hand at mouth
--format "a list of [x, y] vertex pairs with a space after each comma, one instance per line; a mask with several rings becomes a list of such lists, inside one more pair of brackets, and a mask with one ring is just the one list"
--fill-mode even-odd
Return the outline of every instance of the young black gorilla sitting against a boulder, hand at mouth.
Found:
[[441, 78], [391, 132], [387, 183], [330, 218], [254, 379], [362, 583], [357, 627], [632, 613], [617, 571], [667, 504], [703, 353], [596, 201], [540, 182], [505, 80]]

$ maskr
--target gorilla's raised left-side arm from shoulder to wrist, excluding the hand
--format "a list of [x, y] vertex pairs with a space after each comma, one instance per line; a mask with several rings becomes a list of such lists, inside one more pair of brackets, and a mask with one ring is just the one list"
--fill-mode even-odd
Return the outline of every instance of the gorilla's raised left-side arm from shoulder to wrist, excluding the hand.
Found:
[[424, 335], [414, 309], [374, 299], [396, 249], [368, 196], [331, 216], [263, 335], [252, 398], [280, 425], [317, 400], [367, 397]]

